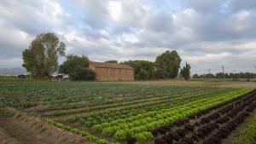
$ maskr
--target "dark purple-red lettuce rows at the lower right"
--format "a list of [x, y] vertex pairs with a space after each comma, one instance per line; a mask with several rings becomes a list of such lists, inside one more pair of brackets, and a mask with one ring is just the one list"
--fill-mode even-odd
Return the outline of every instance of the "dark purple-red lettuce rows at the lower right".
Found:
[[[190, 117], [189, 119], [183, 119], [181, 121], [183, 123], [176, 123], [178, 124], [176, 130], [172, 130], [173, 124], [161, 126], [152, 130], [154, 136], [158, 134], [163, 135], [156, 138], [154, 143], [172, 144], [176, 141], [178, 144], [193, 144], [194, 142], [202, 141], [204, 144], [219, 144], [222, 138], [229, 135], [232, 130], [236, 129], [236, 126], [243, 122], [244, 118], [248, 116], [247, 112], [252, 112], [256, 107], [256, 103], [253, 103], [253, 101], [256, 101], [255, 91], [251, 94], [242, 95], [239, 98], [233, 99], [224, 105], [218, 105], [218, 107], [211, 107], [203, 112], [196, 113], [194, 117]], [[218, 109], [219, 107], [220, 109], [218, 111], [212, 112], [212, 110]], [[243, 110], [247, 112], [243, 112]], [[189, 122], [190, 119], [193, 120]], [[220, 128], [222, 124], [225, 125]], [[213, 130], [218, 130], [218, 132], [206, 139], [207, 135], [210, 135]], [[189, 133], [191, 136], [188, 136]]]

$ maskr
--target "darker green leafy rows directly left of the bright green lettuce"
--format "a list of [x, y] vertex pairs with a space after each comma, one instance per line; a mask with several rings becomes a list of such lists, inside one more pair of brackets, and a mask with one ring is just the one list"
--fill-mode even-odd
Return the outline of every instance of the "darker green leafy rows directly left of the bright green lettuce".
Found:
[[198, 101], [207, 97], [216, 97], [218, 95], [224, 95], [225, 93], [231, 92], [234, 89], [218, 89], [218, 90], [207, 90], [197, 91], [195, 93], [188, 93], [184, 95], [175, 95], [172, 97], [162, 97], [160, 99], [154, 99], [147, 101], [146, 103], [139, 103], [136, 105], [116, 107], [112, 110], [86, 113], [86, 116], [70, 117], [69, 122], [75, 122], [79, 120], [80, 124], [87, 127], [91, 127], [95, 124], [102, 124], [111, 122], [120, 118], [128, 118], [135, 116], [139, 113], [158, 111], [165, 108], [177, 107], [189, 103], [191, 101]]

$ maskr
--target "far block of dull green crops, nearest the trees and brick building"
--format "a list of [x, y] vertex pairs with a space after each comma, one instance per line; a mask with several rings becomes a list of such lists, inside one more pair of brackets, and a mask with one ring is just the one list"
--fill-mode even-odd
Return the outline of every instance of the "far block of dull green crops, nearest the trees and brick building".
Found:
[[210, 89], [216, 90], [217, 88], [8, 81], [0, 84], [0, 105], [45, 112], [114, 105], [125, 101], [183, 95], [193, 91]]

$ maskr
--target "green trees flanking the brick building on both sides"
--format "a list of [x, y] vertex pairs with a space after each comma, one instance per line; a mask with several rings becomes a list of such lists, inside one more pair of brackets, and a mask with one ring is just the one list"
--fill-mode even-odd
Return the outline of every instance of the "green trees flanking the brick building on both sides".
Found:
[[[65, 55], [66, 44], [60, 42], [55, 33], [39, 34], [22, 52], [23, 65], [26, 71], [33, 78], [48, 78], [54, 72], [68, 74], [72, 80], [94, 80], [96, 73], [90, 70], [87, 56]], [[66, 56], [60, 66], [58, 58]], [[167, 50], [158, 55], [155, 61], [149, 60], [128, 60], [121, 64], [126, 64], [134, 68], [135, 79], [165, 79], [177, 78], [180, 74], [184, 79], [190, 78], [190, 66], [186, 63], [180, 70], [182, 59], [177, 51]], [[117, 60], [105, 62], [118, 63]]]

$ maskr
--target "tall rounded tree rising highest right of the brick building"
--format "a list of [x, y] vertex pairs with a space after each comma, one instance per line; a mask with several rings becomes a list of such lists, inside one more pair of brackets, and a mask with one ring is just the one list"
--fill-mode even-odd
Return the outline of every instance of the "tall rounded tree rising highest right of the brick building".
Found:
[[180, 62], [181, 58], [175, 50], [172, 52], [167, 50], [165, 53], [157, 56], [155, 60], [157, 69], [163, 70], [166, 78], [177, 78]]

